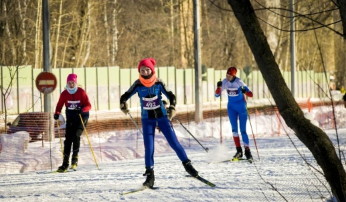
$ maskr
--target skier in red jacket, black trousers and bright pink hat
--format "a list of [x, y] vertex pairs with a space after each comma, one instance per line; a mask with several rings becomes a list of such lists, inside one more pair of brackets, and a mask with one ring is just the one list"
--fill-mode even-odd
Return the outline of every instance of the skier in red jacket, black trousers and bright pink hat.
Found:
[[69, 74], [67, 76], [66, 89], [61, 93], [58, 103], [56, 104], [54, 119], [59, 118], [61, 109], [65, 104], [66, 108], [66, 133], [64, 141], [64, 159], [63, 165], [60, 166], [57, 172], [66, 172], [69, 167], [69, 159], [71, 153], [71, 147], [73, 145], [73, 153], [71, 160], [71, 168], [76, 168], [78, 163], [78, 152], [81, 141], [81, 135], [84, 130], [81, 119], [84, 122], [84, 126], [88, 123], [89, 110], [91, 104], [86, 92], [77, 87], [77, 75]]

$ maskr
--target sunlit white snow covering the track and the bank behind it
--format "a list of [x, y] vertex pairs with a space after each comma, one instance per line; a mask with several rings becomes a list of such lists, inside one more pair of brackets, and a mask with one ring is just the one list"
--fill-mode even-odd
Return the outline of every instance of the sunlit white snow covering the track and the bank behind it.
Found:
[[[315, 109], [315, 119], [328, 110]], [[344, 108], [339, 108], [339, 115], [345, 114]], [[275, 115], [273, 115], [275, 117]], [[317, 117], [317, 118], [316, 118]], [[24, 170], [23, 173], [11, 174], [4, 170], [0, 175], [0, 201], [328, 201], [332, 198], [330, 188], [325, 178], [317, 172], [321, 170], [310, 151], [288, 130], [285, 134], [273, 135], [261, 131], [270, 128], [270, 116], [262, 116], [260, 123], [253, 124], [256, 134], [257, 151], [254, 145], [251, 128], [248, 128], [254, 163], [218, 161], [231, 158], [235, 153], [234, 142], [229, 134], [230, 124], [227, 117], [222, 119], [223, 142], [220, 145], [219, 131], [216, 123], [208, 120], [204, 124], [190, 123], [192, 134], [201, 141], [204, 147], [209, 148], [207, 153], [195, 142], [179, 125], [175, 131], [180, 143], [185, 148], [192, 165], [200, 175], [216, 187], [209, 187], [196, 179], [185, 177], [186, 172], [166, 143], [165, 138], [157, 133], [155, 137], [155, 186], [157, 190], [121, 195], [123, 192], [139, 188], [144, 182], [143, 140], [136, 144], [137, 131], [113, 132], [102, 134], [103, 140], [91, 137], [95, 146], [100, 170], [97, 169], [92, 158], [88, 143], [82, 143], [80, 165], [78, 171], [62, 174], [37, 174], [37, 170]], [[263, 120], [262, 122], [260, 120]], [[318, 119], [317, 119], [318, 120]], [[277, 120], [276, 120], [277, 121]], [[340, 149], [346, 150], [345, 119], [338, 121], [341, 129], [338, 130]], [[274, 124], [275, 125], [275, 124]], [[213, 128], [214, 127], [214, 128]], [[248, 124], [249, 127], [249, 124]], [[257, 131], [258, 129], [258, 131]], [[282, 130], [282, 128], [281, 128]], [[267, 130], [268, 131], [268, 130]], [[269, 130], [270, 131], [270, 130]], [[335, 130], [328, 130], [333, 144], [337, 146]], [[206, 135], [208, 134], [208, 135]], [[210, 135], [212, 134], [212, 135]], [[141, 141], [142, 140], [142, 141]], [[85, 141], [85, 140], [84, 140]], [[191, 141], [191, 142], [190, 142]], [[83, 142], [83, 141], [82, 141]], [[102, 148], [102, 160], [98, 156], [96, 145]], [[191, 144], [190, 144], [191, 143]], [[39, 144], [39, 143], [37, 143]], [[191, 146], [189, 146], [191, 145]], [[29, 143], [28, 147], [35, 147], [36, 143]], [[122, 146], [123, 150], [117, 148]], [[138, 146], [138, 158], [134, 151]], [[297, 147], [297, 150], [295, 147]], [[52, 168], [61, 164], [60, 143], [54, 142], [52, 151], [57, 152]], [[39, 154], [48, 151], [36, 151]], [[309, 167], [300, 154], [314, 168]], [[88, 158], [86, 154], [88, 153]], [[31, 154], [25, 154], [25, 157]], [[36, 154], [37, 156], [37, 154]], [[36, 157], [37, 162], [44, 157]], [[40, 156], [40, 155], [38, 155]], [[128, 158], [131, 157], [131, 158]], [[27, 157], [28, 158], [28, 157]], [[32, 157], [34, 158], [34, 155]], [[126, 159], [127, 158], [127, 159]], [[0, 163], [3, 163], [0, 161]], [[345, 161], [343, 160], [345, 165]], [[40, 170], [39, 172], [41, 172]], [[49, 172], [50, 170], [45, 170]]]

